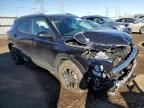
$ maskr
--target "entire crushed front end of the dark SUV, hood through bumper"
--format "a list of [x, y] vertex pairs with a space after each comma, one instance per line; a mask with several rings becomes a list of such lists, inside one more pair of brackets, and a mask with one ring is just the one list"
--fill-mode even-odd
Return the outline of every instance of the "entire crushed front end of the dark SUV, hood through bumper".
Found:
[[135, 77], [137, 48], [129, 35], [120, 34], [85, 32], [67, 41], [84, 48], [80, 56], [90, 62], [84, 76], [90, 88], [114, 92]]

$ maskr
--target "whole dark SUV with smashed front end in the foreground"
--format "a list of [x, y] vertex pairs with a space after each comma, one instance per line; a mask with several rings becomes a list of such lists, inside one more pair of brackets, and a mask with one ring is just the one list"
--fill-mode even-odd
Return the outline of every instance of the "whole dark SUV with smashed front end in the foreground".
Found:
[[132, 37], [74, 15], [20, 17], [8, 40], [15, 64], [33, 61], [72, 92], [115, 91], [134, 76], [137, 48]]

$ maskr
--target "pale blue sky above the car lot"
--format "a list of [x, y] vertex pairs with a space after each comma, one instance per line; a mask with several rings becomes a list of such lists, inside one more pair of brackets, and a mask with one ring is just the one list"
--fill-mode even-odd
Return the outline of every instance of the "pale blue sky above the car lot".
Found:
[[[40, 0], [0, 0], [0, 16], [23, 16], [40, 11]], [[109, 17], [144, 14], [144, 0], [42, 0], [45, 14]]]

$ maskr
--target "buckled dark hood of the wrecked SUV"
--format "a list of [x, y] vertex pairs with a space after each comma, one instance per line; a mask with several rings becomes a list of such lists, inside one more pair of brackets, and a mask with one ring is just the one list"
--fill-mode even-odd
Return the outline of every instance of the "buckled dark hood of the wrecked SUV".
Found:
[[129, 34], [111, 29], [80, 32], [75, 34], [72, 39], [92, 47], [111, 48], [127, 46], [132, 42], [132, 37]]

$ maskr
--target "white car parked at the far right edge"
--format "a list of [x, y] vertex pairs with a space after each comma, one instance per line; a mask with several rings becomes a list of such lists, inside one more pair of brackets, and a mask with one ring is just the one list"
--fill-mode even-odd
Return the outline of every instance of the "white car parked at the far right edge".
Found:
[[135, 18], [120, 18], [116, 22], [123, 22], [128, 24], [128, 27], [131, 28], [132, 32], [137, 32], [144, 34], [144, 22]]

